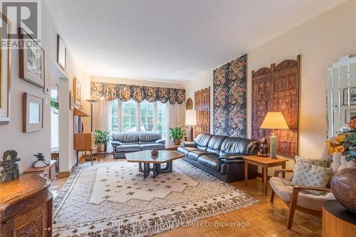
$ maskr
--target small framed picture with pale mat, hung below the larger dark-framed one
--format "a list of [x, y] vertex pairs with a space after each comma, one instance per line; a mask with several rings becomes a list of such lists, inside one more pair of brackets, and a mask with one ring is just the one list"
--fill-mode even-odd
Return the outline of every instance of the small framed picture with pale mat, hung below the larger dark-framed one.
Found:
[[43, 98], [23, 93], [22, 130], [33, 132], [43, 129]]

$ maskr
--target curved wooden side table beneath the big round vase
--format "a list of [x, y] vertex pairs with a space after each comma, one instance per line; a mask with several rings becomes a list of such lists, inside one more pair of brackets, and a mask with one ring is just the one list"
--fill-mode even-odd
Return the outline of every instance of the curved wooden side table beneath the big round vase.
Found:
[[356, 233], [356, 214], [336, 200], [323, 204], [323, 237], [351, 237]]

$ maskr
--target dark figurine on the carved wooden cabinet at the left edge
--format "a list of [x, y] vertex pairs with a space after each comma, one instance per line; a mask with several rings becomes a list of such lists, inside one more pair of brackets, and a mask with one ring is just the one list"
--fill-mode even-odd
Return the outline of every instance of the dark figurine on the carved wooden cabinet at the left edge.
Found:
[[11, 181], [12, 179], [17, 179], [20, 176], [19, 172], [19, 162], [21, 159], [17, 158], [17, 152], [13, 149], [4, 152], [3, 161], [0, 161], [0, 167], [2, 170], [1, 174], [1, 182]]

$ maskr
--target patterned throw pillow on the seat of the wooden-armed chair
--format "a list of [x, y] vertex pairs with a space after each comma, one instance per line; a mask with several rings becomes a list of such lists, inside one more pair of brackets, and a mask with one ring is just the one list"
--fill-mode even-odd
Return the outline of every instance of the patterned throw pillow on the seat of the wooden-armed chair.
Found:
[[[325, 188], [331, 176], [333, 169], [318, 167], [306, 162], [297, 162], [295, 164], [295, 173], [290, 184], [315, 186], [319, 188]], [[306, 193], [311, 194], [323, 194], [323, 191], [315, 190], [303, 190]]]

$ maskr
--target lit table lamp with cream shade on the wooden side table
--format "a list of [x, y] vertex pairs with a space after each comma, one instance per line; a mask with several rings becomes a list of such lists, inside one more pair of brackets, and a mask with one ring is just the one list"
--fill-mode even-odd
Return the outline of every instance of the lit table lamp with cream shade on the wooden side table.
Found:
[[282, 112], [268, 112], [264, 118], [261, 129], [273, 130], [270, 138], [270, 154], [272, 159], [277, 159], [277, 137], [274, 130], [288, 130], [286, 120]]

